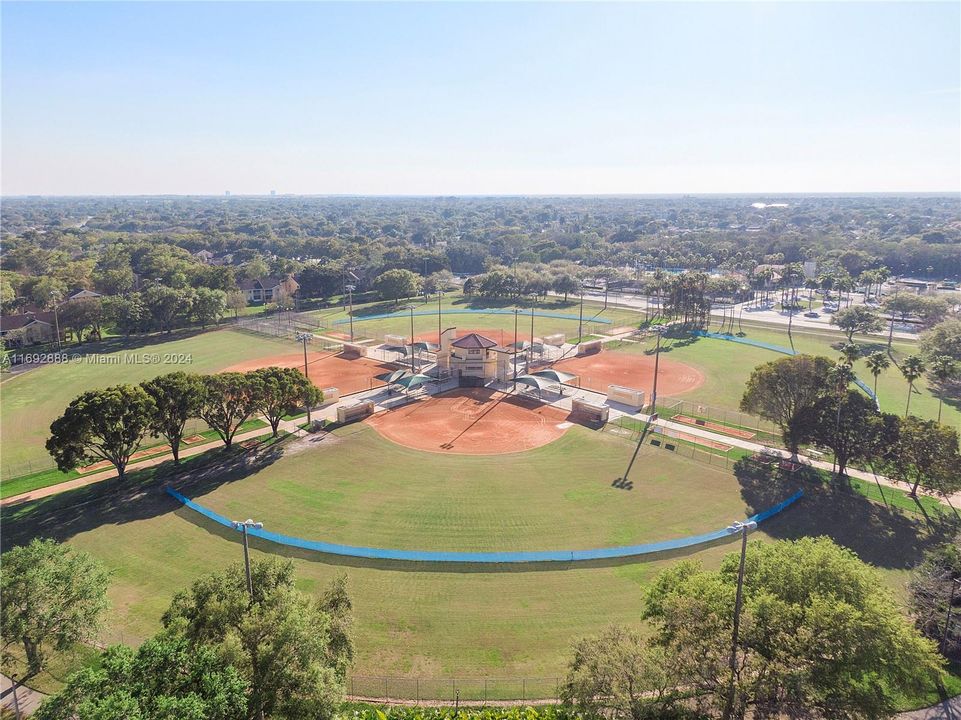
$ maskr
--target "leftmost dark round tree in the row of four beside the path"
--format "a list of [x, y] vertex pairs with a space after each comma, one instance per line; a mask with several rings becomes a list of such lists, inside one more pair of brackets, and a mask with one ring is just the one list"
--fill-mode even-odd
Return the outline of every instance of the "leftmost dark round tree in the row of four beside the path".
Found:
[[127, 464], [150, 429], [156, 403], [136, 385], [88, 390], [50, 425], [47, 451], [63, 472], [106, 460], [126, 479]]

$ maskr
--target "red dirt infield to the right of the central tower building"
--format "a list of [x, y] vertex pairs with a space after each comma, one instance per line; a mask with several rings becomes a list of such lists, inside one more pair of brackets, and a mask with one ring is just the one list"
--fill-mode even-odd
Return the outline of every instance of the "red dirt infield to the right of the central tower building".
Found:
[[[580, 387], [597, 392], [606, 393], [608, 385], [621, 385], [643, 390], [646, 400], [654, 385], [654, 358], [648, 355], [601, 350], [593, 355], [561, 360], [554, 367], [577, 375]], [[660, 397], [694, 390], [704, 382], [704, 375], [696, 368], [668, 360], [663, 355], [657, 373], [657, 394]]]

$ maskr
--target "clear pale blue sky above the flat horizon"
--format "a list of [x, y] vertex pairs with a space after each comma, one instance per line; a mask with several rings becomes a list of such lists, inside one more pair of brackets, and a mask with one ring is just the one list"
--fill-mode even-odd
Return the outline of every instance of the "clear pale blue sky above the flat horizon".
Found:
[[19, 194], [961, 190], [961, 4], [10, 3]]

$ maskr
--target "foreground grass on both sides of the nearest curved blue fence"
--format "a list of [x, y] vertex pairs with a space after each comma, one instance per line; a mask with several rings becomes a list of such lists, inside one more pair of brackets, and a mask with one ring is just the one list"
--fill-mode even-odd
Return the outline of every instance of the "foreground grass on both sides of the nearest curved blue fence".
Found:
[[[273, 446], [259, 465], [217, 469], [179, 486], [231, 517], [253, 516], [285, 534], [459, 550], [669, 539], [721, 527], [797, 487], [794, 478], [739, 479], [645, 447], [631, 474], [634, 490], [619, 490], [611, 481], [634, 446], [581, 427], [537, 450], [497, 457], [420, 453], [363, 425], [298, 449], [279, 457]], [[162, 493], [159, 482], [170, 479], [129, 496], [102, 485], [6, 508], [5, 542], [52, 536], [101, 559], [111, 571], [113, 604], [103, 639], [139, 641], [157, 629], [174, 592], [242, 557], [233, 533]], [[812, 483], [808, 490], [757, 537], [832, 535], [903, 591], [907, 569], [929, 542], [921, 520], [844, 488]], [[305, 591], [349, 576], [357, 674], [424, 678], [558, 677], [575, 637], [611, 622], [641, 625], [643, 590], [657, 571], [688, 556], [714, 566], [735, 549], [723, 543], [638, 562], [491, 571], [374, 564], [254, 543], [255, 556], [294, 557]]]

